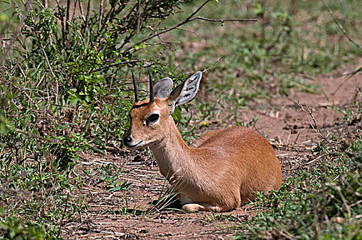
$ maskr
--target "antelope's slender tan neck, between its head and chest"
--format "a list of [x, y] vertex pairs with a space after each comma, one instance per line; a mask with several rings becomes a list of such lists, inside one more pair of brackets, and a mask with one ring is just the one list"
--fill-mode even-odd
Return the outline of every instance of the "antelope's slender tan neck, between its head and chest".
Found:
[[166, 131], [163, 134], [165, 138], [149, 145], [149, 149], [154, 154], [161, 173], [170, 180], [172, 176], [183, 176], [189, 172], [193, 166], [193, 153], [191, 147], [183, 141], [172, 117]]

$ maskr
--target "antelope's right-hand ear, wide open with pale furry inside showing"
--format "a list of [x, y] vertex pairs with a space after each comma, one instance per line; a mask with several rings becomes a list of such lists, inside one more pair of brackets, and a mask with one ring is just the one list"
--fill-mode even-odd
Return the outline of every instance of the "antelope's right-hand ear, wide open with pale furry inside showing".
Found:
[[182, 84], [178, 85], [169, 95], [169, 100], [176, 106], [186, 104], [191, 101], [197, 93], [200, 86], [202, 72], [197, 71]]

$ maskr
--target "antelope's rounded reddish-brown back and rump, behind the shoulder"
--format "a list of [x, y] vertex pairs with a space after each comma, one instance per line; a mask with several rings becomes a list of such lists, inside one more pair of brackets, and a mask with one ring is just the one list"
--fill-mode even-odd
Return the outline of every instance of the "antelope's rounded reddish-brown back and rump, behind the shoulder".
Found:
[[215, 161], [211, 164], [230, 168], [229, 172], [239, 176], [246, 189], [270, 191], [279, 189], [282, 183], [280, 163], [272, 145], [249, 128], [237, 126], [208, 132], [192, 147], [208, 149], [209, 160]]

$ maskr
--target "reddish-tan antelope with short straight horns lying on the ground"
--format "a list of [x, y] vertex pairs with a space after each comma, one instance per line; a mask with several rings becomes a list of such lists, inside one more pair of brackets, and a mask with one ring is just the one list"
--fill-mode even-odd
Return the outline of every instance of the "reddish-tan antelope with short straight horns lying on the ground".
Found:
[[162, 175], [180, 192], [182, 210], [230, 211], [256, 192], [279, 189], [280, 163], [266, 139], [241, 126], [207, 132], [191, 146], [182, 140], [172, 113], [193, 100], [201, 78], [197, 71], [171, 91], [171, 78], [153, 86], [149, 73], [149, 99], [140, 101], [132, 72], [135, 102], [123, 144], [151, 149]]

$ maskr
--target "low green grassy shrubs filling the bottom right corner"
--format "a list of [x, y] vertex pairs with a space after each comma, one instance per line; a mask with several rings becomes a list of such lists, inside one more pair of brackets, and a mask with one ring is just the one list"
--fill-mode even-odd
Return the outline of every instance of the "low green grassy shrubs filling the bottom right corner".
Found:
[[[240, 239], [361, 239], [362, 139], [351, 147], [330, 149], [322, 165], [284, 180], [253, 203], [256, 217], [245, 223]], [[351, 153], [354, 154], [351, 154]]]

